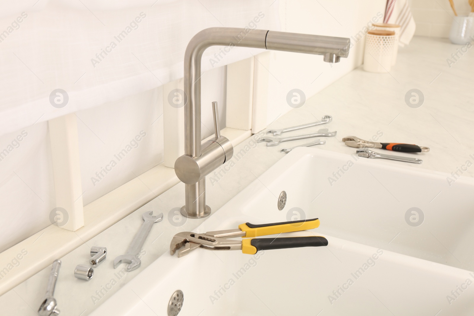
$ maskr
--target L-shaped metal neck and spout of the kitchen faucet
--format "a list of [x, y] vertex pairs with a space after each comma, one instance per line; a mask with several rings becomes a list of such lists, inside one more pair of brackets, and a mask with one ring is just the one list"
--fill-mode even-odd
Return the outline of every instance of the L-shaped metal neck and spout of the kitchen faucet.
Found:
[[350, 40], [236, 27], [210, 27], [197, 33], [184, 53], [184, 92], [188, 98], [184, 153], [194, 157], [201, 156], [201, 57], [207, 48], [216, 45], [319, 54], [324, 55], [325, 62], [337, 63], [340, 57], [348, 56]]

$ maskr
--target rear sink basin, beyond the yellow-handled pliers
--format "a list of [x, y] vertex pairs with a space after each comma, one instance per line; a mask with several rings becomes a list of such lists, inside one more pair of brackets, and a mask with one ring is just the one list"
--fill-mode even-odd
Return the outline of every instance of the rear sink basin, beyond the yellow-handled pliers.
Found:
[[301, 210], [319, 217], [321, 233], [474, 271], [474, 179], [450, 186], [447, 177], [409, 163], [297, 148], [232, 204], [248, 217], [271, 218], [285, 190], [280, 220], [299, 208], [294, 218]]

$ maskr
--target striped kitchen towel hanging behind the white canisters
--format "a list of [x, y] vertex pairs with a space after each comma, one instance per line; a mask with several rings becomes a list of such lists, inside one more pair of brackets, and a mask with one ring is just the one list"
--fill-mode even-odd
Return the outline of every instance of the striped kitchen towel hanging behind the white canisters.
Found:
[[383, 23], [400, 25], [399, 45], [410, 44], [415, 34], [416, 24], [407, 0], [387, 0]]

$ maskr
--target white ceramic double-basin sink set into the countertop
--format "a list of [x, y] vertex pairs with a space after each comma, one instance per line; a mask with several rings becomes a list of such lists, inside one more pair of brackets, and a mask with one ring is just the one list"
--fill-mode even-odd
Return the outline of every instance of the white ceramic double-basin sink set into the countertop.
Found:
[[[167, 315], [177, 289], [180, 316], [473, 315], [474, 181], [447, 176], [298, 148], [197, 232], [319, 217], [319, 228], [287, 235], [324, 235], [327, 247], [164, 254], [91, 315]], [[410, 208], [424, 219], [406, 219]]]

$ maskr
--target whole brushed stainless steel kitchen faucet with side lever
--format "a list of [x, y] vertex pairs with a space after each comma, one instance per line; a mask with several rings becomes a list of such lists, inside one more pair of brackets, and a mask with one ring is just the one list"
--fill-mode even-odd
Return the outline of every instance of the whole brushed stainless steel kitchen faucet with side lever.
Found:
[[232, 158], [234, 148], [219, 133], [217, 102], [213, 102], [215, 137], [201, 144], [201, 57], [210, 46], [265, 48], [323, 55], [328, 63], [337, 63], [349, 54], [350, 39], [344, 37], [249, 30], [235, 27], [210, 27], [191, 38], [184, 53], [184, 154], [176, 159], [174, 171], [184, 182], [185, 205], [181, 214], [206, 217], [206, 175]]

